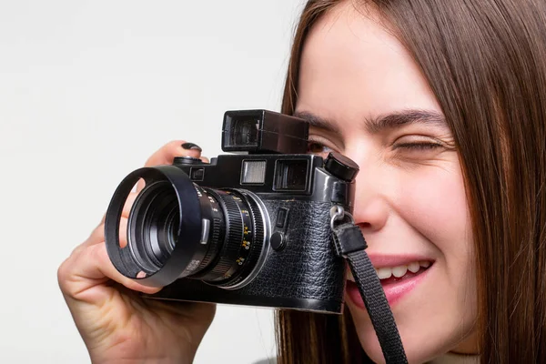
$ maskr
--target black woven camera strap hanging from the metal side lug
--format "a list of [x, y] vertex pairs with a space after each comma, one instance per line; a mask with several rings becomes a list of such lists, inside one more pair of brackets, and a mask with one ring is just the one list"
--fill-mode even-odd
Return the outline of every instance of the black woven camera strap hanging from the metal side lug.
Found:
[[[366, 253], [366, 240], [352, 216], [343, 207], [332, 207], [331, 223], [336, 252], [346, 258], [349, 268], [359, 286], [360, 296], [368, 310], [369, 319], [383, 351], [387, 364], [408, 363], [399, 331], [394, 321], [389, 302], [379, 282], [379, 277]], [[343, 222], [349, 217], [349, 222]], [[340, 222], [336, 225], [336, 222]]]

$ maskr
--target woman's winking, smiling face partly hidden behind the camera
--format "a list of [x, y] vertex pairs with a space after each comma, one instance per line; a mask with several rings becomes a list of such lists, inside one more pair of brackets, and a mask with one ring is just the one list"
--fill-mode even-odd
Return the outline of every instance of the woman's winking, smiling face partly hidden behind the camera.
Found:
[[[296, 114], [311, 121], [311, 152], [359, 164], [353, 215], [410, 362], [472, 352], [470, 219], [453, 137], [408, 51], [369, 16], [342, 5], [313, 27]], [[383, 361], [351, 279], [346, 300], [360, 342]]]

